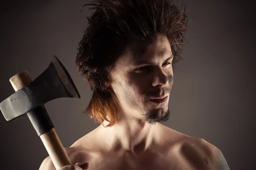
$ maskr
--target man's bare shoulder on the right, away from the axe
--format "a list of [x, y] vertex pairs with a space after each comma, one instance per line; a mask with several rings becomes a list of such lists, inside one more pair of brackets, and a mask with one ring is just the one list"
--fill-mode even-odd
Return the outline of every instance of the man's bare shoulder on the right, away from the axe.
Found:
[[163, 128], [165, 136], [169, 134], [168, 143], [172, 152], [178, 152], [177, 155], [180, 155], [196, 169], [230, 170], [218, 147], [203, 138], [191, 137], [169, 127]]

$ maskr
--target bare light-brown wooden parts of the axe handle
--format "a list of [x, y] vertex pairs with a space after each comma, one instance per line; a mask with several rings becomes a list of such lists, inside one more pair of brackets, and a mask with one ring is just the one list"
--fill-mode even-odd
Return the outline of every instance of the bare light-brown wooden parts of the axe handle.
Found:
[[[15, 89], [15, 92], [32, 82], [29, 72], [26, 70], [12, 76], [9, 81], [11, 82], [12, 87]], [[64, 150], [64, 147], [61, 144], [61, 141], [58, 138], [54, 128], [40, 135], [40, 138], [43, 141], [44, 147], [49, 153], [56, 170], [71, 164], [71, 161], [68, 158], [67, 153]]]

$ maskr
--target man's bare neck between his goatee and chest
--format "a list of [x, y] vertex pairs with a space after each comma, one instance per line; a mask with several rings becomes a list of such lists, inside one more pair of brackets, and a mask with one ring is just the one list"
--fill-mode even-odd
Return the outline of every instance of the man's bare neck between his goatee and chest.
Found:
[[138, 118], [119, 118], [116, 124], [106, 127], [108, 121], [100, 125], [102, 135], [106, 136], [105, 142], [111, 150], [125, 150], [132, 155], [143, 153], [157, 141], [159, 123], [148, 124]]

